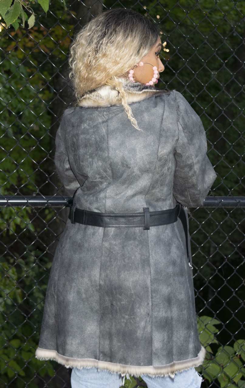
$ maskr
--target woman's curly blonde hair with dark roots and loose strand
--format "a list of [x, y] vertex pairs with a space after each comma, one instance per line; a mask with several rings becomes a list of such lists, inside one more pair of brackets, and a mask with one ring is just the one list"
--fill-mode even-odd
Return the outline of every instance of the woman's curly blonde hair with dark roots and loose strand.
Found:
[[131, 9], [107, 10], [87, 23], [70, 46], [69, 77], [77, 103], [89, 90], [110, 85], [119, 92], [131, 124], [140, 129], [119, 77], [149, 53], [158, 36], [157, 26]]

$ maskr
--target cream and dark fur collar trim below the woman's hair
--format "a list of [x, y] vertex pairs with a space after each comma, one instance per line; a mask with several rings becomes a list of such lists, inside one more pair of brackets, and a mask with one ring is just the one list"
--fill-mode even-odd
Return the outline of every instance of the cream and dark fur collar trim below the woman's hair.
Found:
[[[144, 100], [153, 95], [166, 93], [153, 86], [142, 85], [140, 82], [133, 83], [127, 78], [121, 78], [121, 81], [125, 92], [128, 94], [128, 104]], [[82, 96], [82, 99], [78, 103], [79, 106], [83, 107], [105, 107], [121, 104], [122, 100], [120, 99], [119, 92], [109, 85], [103, 85], [94, 90], [89, 90], [89, 92]]]

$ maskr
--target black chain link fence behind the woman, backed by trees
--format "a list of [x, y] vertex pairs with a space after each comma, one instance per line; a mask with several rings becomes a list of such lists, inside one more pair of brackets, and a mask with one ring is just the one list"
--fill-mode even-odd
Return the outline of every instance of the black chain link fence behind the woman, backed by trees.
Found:
[[[165, 71], [200, 115], [218, 178], [189, 209], [196, 312], [207, 349], [202, 387], [245, 387], [245, 3], [231, 0], [33, 2], [30, 30], [0, 20], [0, 388], [70, 387], [71, 369], [34, 357], [49, 270], [67, 219], [54, 138], [75, 103], [68, 81], [72, 36], [108, 8], [132, 8], [159, 25]], [[125, 380], [126, 388], [146, 386]]]

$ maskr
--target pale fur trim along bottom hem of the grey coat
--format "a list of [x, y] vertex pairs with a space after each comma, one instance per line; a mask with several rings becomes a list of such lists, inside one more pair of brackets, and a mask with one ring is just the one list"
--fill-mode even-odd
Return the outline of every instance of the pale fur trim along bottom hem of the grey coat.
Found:
[[65, 357], [57, 353], [56, 350], [42, 349], [39, 347], [35, 352], [35, 357], [38, 360], [55, 360], [66, 368], [75, 367], [81, 369], [96, 367], [98, 369], [107, 369], [112, 373], [120, 373], [122, 376], [131, 375], [138, 377], [141, 374], [147, 374], [151, 377], [170, 376], [173, 378], [177, 372], [201, 365], [205, 359], [205, 353], [205, 348], [201, 346], [198, 356], [193, 359], [174, 361], [171, 364], [159, 366], [123, 365], [94, 359], [75, 359], [73, 357]]

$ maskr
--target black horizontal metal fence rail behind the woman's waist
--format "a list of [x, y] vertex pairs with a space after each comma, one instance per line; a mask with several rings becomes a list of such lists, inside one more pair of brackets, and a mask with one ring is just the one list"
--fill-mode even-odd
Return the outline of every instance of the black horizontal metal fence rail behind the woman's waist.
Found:
[[[63, 206], [70, 206], [73, 203], [72, 197], [67, 196], [2, 196], [0, 197], [0, 207], [12, 206], [32, 206], [35, 208], [42, 208], [44, 206], [52, 206], [61, 208]], [[203, 201], [205, 208], [236, 208], [240, 206], [245, 208], [245, 197], [206, 197]]]

